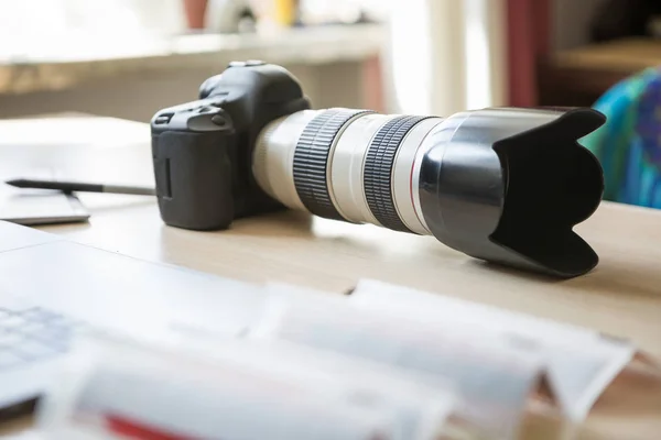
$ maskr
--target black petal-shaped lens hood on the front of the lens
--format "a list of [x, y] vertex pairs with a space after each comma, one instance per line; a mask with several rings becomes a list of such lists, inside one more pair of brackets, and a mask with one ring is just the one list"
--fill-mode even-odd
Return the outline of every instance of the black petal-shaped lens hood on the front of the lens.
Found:
[[593, 109], [494, 108], [457, 113], [430, 133], [420, 206], [430, 231], [476, 258], [568, 278], [598, 263], [573, 227], [599, 206], [604, 176], [578, 140]]

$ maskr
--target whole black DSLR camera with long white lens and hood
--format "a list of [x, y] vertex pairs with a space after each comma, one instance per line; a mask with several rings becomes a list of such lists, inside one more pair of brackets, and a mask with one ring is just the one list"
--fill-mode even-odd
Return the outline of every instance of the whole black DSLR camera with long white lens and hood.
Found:
[[163, 221], [223, 230], [280, 209], [433, 235], [559, 277], [598, 256], [573, 227], [604, 191], [578, 140], [596, 110], [490, 108], [448, 118], [313, 110], [285, 68], [235, 62], [151, 121]]

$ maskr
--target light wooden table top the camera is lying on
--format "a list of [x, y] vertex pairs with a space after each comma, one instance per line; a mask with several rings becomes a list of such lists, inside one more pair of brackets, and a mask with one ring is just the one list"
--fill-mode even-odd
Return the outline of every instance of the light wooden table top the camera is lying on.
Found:
[[[152, 182], [148, 127], [112, 119], [66, 119], [61, 124], [79, 124], [78, 133], [90, 135], [62, 146], [66, 133], [58, 140], [39, 129], [52, 123], [0, 122], [0, 176], [30, 162], [55, 164], [80, 178]], [[97, 124], [108, 134], [95, 136], [86, 124]], [[26, 141], [28, 135], [35, 140]], [[148, 197], [80, 198], [93, 212], [89, 223], [43, 229], [136, 257], [250, 282], [280, 280], [342, 293], [361, 277], [378, 278], [630, 338], [661, 359], [661, 211], [604, 202], [577, 228], [599, 253], [599, 266], [586, 276], [557, 280], [473, 260], [433, 238], [302, 212], [245, 219], [228, 231], [203, 233], [164, 226], [155, 201]], [[594, 437], [586, 438], [658, 438], [661, 380], [657, 380], [616, 382], [587, 425]]]

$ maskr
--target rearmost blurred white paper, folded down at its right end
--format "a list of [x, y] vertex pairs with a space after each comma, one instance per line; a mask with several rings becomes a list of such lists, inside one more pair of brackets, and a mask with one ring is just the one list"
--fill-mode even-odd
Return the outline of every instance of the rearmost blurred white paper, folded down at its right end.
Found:
[[362, 279], [349, 297], [354, 307], [418, 322], [472, 326], [506, 345], [543, 353], [551, 386], [573, 420], [587, 417], [608, 384], [632, 360], [636, 348], [600, 333], [443, 295]]

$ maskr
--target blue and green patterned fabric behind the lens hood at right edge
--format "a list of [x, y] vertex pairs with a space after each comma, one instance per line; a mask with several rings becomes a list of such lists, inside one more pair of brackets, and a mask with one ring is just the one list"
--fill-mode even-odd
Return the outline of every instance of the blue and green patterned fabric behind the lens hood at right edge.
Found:
[[661, 208], [661, 68], [620, 81], [594, 108], [608, 121], [581, 143], [602, 163], [604, 198]]

